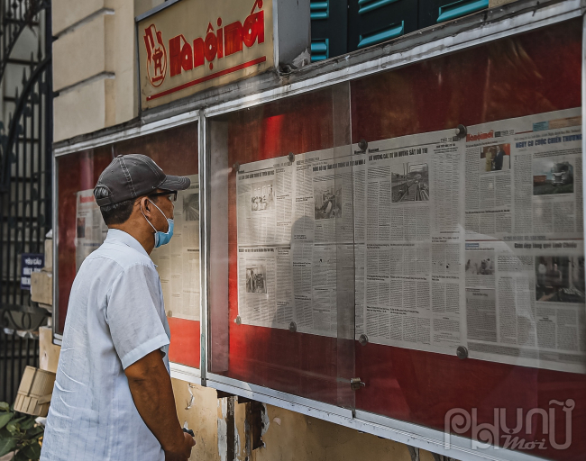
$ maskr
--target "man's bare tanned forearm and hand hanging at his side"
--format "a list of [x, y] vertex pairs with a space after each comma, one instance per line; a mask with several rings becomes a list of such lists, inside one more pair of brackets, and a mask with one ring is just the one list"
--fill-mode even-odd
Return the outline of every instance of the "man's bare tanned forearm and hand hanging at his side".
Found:
[[124, 370], [134, 405], [165, 451], [166, 461], [187, 461], [196, 441], [179, 425], [171, 377], [159, 349]]

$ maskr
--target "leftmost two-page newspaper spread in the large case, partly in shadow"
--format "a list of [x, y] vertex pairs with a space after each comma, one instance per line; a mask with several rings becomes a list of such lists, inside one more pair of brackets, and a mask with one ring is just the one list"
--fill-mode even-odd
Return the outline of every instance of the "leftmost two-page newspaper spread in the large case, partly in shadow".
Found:
[[325, 149], [298, 154], [293, 162], [272, 158], [238, 173], [244, 324], [288, 329], [294, 322], [298, 331], [337, 335], [338, 283], [353, 276], [350, 149], [347, 154], [334, 157], [334, 149]]

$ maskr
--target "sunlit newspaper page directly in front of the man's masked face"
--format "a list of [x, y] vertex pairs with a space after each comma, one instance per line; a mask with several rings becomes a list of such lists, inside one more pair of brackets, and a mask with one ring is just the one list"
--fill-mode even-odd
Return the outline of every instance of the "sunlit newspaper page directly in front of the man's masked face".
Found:
[[173, 211], [173, 238], [153, 249], [168, 317], [199, 321], [199, 182], [179, 191]]

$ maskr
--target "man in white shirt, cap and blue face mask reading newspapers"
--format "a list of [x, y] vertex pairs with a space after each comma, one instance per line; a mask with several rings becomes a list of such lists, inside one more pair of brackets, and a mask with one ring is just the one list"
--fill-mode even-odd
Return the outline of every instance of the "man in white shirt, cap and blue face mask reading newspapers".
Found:
[[169, 324], [149, 257], [173, 234], [189, 179], [118, 156], [94, 196], [108, 234], [73, 282], [42, 461], [186, 461], [169, 376]]

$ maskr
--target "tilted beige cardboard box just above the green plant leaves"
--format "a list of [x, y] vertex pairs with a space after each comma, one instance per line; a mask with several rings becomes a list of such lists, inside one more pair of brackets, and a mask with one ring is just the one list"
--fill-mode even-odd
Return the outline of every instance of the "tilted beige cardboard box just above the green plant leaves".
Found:
[[34, 416], [47, 416], [53, 384], [55, 384], [54, 373], [27, 366], [24, 369], [21, 385], [18, 386], [14, 411]]

